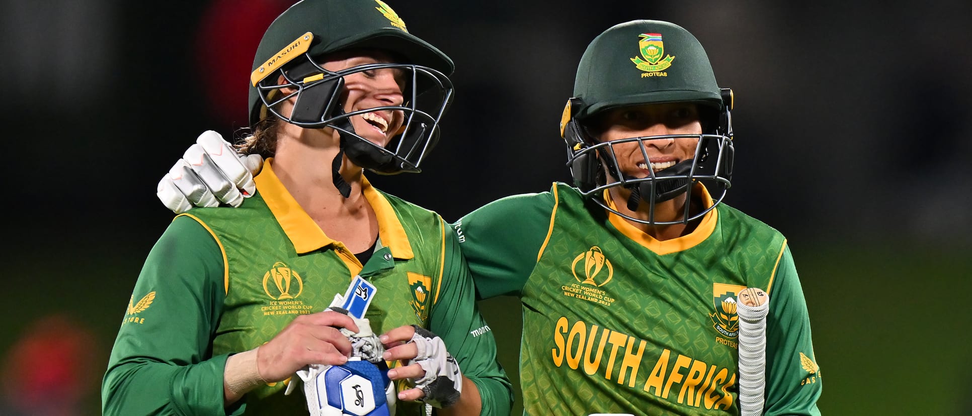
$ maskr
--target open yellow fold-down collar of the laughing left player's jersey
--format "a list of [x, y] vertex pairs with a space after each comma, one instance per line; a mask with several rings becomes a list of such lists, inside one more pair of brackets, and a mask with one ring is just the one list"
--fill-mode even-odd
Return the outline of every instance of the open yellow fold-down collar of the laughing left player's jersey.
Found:
[[[331, 240], [310, 215], [297, 205], [294, 197], [273, 173], [272, 162], [272, 157], [263, 162], [263, 169], [254, 181], [257, 182], [257, 190], [266, 202], [266, 207], [270, 208], [270, 212], [284, 229], [287, 238], [294, 244], [295, 251], [298, 254], [307, 253], [336, 242]], [[381, 240], [381, 245], [389, 247], [395, 258], [407, 260], [415, 257], [395, 209], [364, 176], [362, 176], [362, 192], [364, 199], [378, 218], [378, 238]]]

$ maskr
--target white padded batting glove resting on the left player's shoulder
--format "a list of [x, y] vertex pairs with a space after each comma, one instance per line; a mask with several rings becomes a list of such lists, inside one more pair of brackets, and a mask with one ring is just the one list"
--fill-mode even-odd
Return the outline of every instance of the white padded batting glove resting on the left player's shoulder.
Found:
[[156, 196], [175, 213], [220, 203], [239, 207], [256, 192], [253, 176], [262, 166], [260, 155], [239, 154], [223, 136], [207, 130], [159, 180]]

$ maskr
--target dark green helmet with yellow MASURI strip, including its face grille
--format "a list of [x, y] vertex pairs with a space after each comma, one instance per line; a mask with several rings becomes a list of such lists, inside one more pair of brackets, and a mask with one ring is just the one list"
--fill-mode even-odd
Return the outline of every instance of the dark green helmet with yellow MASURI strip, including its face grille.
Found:
[[[331, 53], [359, 48], [381, 49], [401, 62], [339, 72], [321, 66], [322, 58]], [[406, 74], [404, 102], [344, 112], [340, 102], [344, 77], [384, 68]], [[448, 56], [408, 33], [404, 21], [381, 0], [301, 0], [277, 16], [260, 40], [250, 77], [250, 124], [256, 125], [271, 112], [301, 127], [330, 127], [341, 136], [342, 152], [364, 169], [382, 175], [421, 172], [419, 165], [438, 139], [439, 119], [452, 102], [448, 75], [453, 69]], [[295, 91], [285, 95], [281, 93], [285, 87]], [[279, 106], [291, 98], [294, 111], [285, 116]], [[404, 122], [385, 147], [355, 133], [351, 116], [387, 111], [404, 112]], [[339, 158], [340, 154], [335, 171]]]

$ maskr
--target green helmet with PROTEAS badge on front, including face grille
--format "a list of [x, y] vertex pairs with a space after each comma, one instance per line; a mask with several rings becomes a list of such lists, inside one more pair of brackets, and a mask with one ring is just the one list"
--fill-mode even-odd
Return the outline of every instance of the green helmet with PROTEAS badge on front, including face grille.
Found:
[[[661, 103], [694, 103], [699, 109], [700, 135], [646, 136], [600, 143], [590, 133], [598, 114], [612, 109]], [[702, 44], [684, 28], [659, 20], [633, 20], [598, 35], [584, 51], [561, 118], [561, 137], [568, 146], [568, 166], [574, 185], [604, 208], [645, 224], [687, 223], [708, 213], [731, 186], [733, 144], [732, 90], [715, 83], [712, 65]], [[645, 141], [697, 138], [695, 157], [646, 177], [625, 176], [614, 157], [613, 145], [637, 142], [647, 160]], [[610, 173], [605, 175], [605, 171]], [[713, 204], [689, 215], [690, 204], [678, 221], [656, 221], [656, 203], [678, 195], [691, 197], [693, 184], [706, 183]], [[604, 191], [623, 186], [631, 190], [628, 208], [644, 201], [648, 220], [609, 208]]]

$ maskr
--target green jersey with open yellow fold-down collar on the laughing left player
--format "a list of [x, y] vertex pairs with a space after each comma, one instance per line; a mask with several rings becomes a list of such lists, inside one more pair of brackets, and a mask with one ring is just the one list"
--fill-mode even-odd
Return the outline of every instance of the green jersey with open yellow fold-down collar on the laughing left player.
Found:
[[[223, 405], [226, 357], [253, 349], [297, 315], [324, 310], [361, 274], [377, 288], [365, 315], [382, 334], [417, 324], [441, 336], [478, 387], [484, 414], [508, 414], [512, 390], [475, 305], [455, 235], [436, 213], [378, 192], [378, 244], [362, 265], [301, 209], [272, 169], [240, 208], [194, 208], [156, 242], [135, 284], [102, 384], [105, 414], [307, 414], [288, 381]], [[299, 389], [298, 389], [299, 390]], [[417, 402], [397, 414], [425, 414]]]

